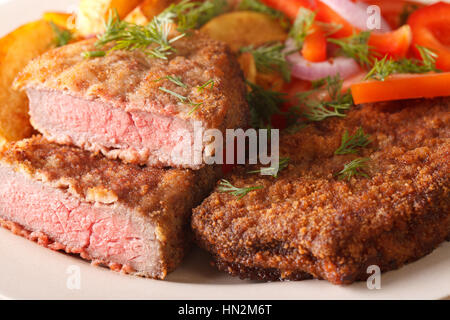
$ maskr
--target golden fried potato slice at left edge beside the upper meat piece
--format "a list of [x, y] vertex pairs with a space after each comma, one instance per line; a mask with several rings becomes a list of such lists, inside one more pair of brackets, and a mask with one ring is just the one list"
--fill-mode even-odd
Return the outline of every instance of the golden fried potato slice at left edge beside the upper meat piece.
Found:
[[0, 39], [0, 145], [33, 133], [28, 98], [11, 85], [33, 58], [53, 46], [54, 33], [47, 21], [28, 23]]

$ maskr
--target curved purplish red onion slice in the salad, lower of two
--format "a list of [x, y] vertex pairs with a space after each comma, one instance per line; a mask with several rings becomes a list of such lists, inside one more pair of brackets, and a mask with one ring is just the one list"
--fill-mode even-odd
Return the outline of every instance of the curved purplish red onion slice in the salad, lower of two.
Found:
[[[286, 41], [285, 52], [295, 50], [292, 39]], [[296, 50], [286, 56], [291, 65], [292, 76], [298, 79], [314, 81], [325, 77], [339, 75], [341, 79], [347, 79], [360, 72], [358, 63], [352, 58], [337, 57], [323, 62], [310, 62], [304, 59]]]

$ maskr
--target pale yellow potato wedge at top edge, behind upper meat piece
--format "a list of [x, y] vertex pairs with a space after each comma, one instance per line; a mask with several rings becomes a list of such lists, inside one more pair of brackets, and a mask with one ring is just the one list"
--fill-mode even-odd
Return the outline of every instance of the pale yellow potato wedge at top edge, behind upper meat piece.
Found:
[[142, 0], [80, 0], [76, 18], [76, 29], [82, 36], [104, 31], [104, 21], [111, 10], [117, 10], [124, 19]]

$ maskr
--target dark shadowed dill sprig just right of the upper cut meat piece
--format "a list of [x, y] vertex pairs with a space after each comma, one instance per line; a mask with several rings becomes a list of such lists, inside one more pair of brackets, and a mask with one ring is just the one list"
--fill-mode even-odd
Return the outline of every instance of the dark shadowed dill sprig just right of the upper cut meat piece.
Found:
[[271, 90], [265, 90], [263, 87], [247, 81], [250, 87], [247, 93], [247, 101], [250, 106], [251, 120], [253, 128], [266, 128], [271, 118], [275, 114], [282, 114], [281, 105], [286, 102], [286, 94]]

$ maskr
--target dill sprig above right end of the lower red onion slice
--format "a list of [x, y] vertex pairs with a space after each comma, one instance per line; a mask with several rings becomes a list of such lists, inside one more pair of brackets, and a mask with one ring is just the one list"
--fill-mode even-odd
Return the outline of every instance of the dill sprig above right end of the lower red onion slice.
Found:
[[373, 63], [373, 53], [369, 46], [370, 31], [360, 32], [343, 39], [328, 39], [340, 47], [340, 53], [355, 59], [361, 66], [369, 67]]

